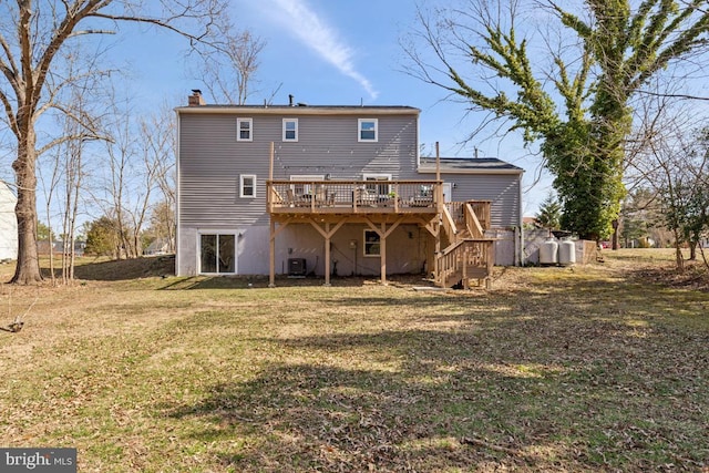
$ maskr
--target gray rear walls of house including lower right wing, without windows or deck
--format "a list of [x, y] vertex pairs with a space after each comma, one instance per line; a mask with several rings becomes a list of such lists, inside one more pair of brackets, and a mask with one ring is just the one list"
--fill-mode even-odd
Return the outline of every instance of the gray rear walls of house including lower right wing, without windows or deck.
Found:
[[[350, 113], [351, 109], [351, 113]], [[260, 110], [260, 112], [259, 112]], [[282, 114], [279, 113], [282, 110]], [[363, 174], [389, 174], [393, 179], [434, 179], [417, 168], [418, 110], [347, 107], [332, 112], [281, 107], [182, 109], [178, 157], [177, 274], [198, 270], [201, 233], [236, 236], [236, 273], [269, 273], [269, 216], [266, 181], [270, 143], [275, 145], [274, 179], [322, 175], [333, 181], [359, 181]], [[393, 111], [392, 111], [393, 110]], [[399, 113], [401, 112], [401, 113]], [[237, 141], [237, 119], [251, 119], [253, 141]], [[298, 119], [298, 142], [282, 141], [282, 119]], [[378, 141], [358, 141], [358, 120], [378, 120]], [[256, 175], [256, 197], [239, 197], [239, 176]], [[454, 183], [453, 200], [492, 200], [492, 225], [520, 226], [520, 175], [442, 174]], [[364, 225], [347, 224], [331, 240], [339, 275], [377, 275], [379, 258], [362, 255]], [[351, 243], [357, 241], [356, 248]], [[420, 273], [433, 251], [430, 235], [417, 225], [402, 225], [388, 238], [389, 273]], [[302, 257], [308, 270], [322, 275], [323, 239], [308, 225], [290, 225], [276, 239], [276, 273], [289, 258]]]

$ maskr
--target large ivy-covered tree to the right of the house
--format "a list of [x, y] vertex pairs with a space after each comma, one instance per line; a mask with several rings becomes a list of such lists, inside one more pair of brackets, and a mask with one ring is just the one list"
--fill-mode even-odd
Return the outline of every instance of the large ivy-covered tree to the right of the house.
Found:
[[523, 132], [526, 144], [538, 143], [564, 206], [562, 225], [598, 239], [610, 233], [625, 196], [630, 102], [667, 69], [706, 62], [703, 6], [453, 1], [431, 14], [419, 11], [405, 45], [408, 72], [487, 113], [483, 126], [502, 123]]

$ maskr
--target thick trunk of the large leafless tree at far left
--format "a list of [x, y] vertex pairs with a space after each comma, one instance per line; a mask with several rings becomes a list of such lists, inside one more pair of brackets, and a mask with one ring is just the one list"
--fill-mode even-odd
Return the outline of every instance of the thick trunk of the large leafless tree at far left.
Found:
[[[29, 119], [28, 119], [29, 120]], [[34, 130], [18, 140], [18, 158], [12, 163], [18, 184], [18, 265], [10, 282], [30, 285], [42, 280], [37, 251], [37, 151]]]

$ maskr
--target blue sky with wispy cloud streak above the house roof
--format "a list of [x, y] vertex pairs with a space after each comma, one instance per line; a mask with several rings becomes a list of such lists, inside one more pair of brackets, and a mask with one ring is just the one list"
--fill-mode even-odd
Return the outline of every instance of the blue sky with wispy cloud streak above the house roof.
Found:
[[[286, 104], [292, 94], [297, 102], [311, 105], [418, 107], [420, 142], [428, 150], [436, 141], [442, 156], [473, 156], [477, 148], [480, 156], [500, 157], [524, 168], [524, 213], [536, 213], [549, 179], [532, 186], [538, 161], [522, 147], [522, 140], [463, 143], [480, 117], [466, 115], [460, 103], [445, 101], [445, 91], [402, 72], [405, 58], [400, 39], [415, 24], [414, 0], [233, 0], [232, 6], [236, 25], [266, 42], [249, 103], [263, 103], [277, 90], [276, 104]], [[162, 32], [148, 34], [150, 42], [134, 37], [121, 45], [133, 64], [138, 95], [148, 102], [186, 104], [189, 90], [199, 84], [186, 76], [182, 40]]]

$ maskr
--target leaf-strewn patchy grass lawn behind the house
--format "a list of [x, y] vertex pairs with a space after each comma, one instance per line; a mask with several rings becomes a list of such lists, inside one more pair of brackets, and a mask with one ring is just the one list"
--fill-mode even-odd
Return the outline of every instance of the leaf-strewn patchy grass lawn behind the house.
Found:
[[82, 472], [707, 472], [709, 292], [670, 253], [605, 256], [490, 291], [110, 264], [0, 286], [0, 322], [27, 313], [0, 332], [0, 444]]

